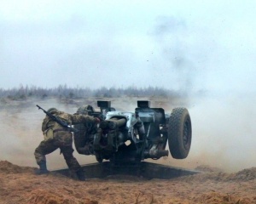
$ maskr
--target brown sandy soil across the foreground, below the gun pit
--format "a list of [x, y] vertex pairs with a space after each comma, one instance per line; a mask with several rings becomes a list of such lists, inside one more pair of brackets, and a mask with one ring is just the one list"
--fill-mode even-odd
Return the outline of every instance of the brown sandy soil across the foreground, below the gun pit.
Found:
[[84, 182], [0, 161], [0, 203], [256, 203], [256, 167], [171, 180], [116, 176]]

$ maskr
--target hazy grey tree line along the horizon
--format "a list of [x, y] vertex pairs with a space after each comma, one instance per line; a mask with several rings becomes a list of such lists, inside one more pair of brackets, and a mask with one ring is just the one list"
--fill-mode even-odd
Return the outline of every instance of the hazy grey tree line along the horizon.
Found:
[[85, 97], [169, 97], [177, 96], [177, 93], [173, 90], [166, 88], [158, 88], [148, 86], [147, 88], [137, 88], [131, 86], [128, 88], [70, 88], [67, 85], [59, 85], [56, 88], [40, 88], [36, 86], [23, 86], [19, 88], [0, 88], [0, 97], [9, 99], [27, 99], [30, 97], [47, 98], [58, 97], [68, 99], [79, 99]]

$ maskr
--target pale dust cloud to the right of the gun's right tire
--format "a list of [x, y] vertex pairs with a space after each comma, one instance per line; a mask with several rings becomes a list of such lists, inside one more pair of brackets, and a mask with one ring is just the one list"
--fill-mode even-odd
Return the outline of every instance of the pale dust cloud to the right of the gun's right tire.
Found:
[[209, 165], [227, 172], [256, 166], [256, 108], [253, 96], [197, 97], [189, 101], [192, 144], [185, 160], [162, 159], [177, 167]]

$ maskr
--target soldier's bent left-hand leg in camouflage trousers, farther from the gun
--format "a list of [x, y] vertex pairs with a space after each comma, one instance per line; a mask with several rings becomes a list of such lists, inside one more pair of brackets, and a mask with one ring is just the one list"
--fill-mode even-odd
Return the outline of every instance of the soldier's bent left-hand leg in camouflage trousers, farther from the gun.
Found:
[[34, 156], [36, 158], [36, 161], [39, 165], [39, 169], [35, 171], [36, 174], [43, 174], [48, 173], [47, 167], [46, 167], [46, 157], [45, 155], [48, 155], [49, 153], [56, 150], [58, 146], [53, 144], [49, 141], [42, 141], [38, 147], [36, 148], [34, 152]]

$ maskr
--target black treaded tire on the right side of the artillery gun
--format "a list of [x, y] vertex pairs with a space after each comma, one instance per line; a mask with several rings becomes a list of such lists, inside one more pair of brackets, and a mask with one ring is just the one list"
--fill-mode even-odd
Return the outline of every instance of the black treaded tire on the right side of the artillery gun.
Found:
[[168, 144], [175, 159], [184, 159], [189, 155], [192, 140], [192, 125], [186, 108], [174, 108], [169, 119]]

